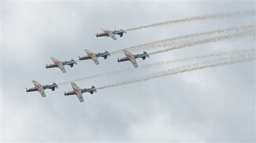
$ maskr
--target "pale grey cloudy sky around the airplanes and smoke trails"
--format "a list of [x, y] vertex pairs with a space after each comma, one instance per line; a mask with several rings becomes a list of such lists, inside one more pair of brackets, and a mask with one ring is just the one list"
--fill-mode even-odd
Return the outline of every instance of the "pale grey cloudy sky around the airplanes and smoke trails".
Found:
[[[228, 5], [228, 6], [227, 6]], [[70, 84], [54, 92], [25, 92], [41, 84], [132, 67], [113, 55], [99, 65], [91, 60], [45, 69], [92, 52], [116, 51], [181, 35], [255, 24], [254, 17], [212, 19], [129, 31], [117, 40], [95, 37], [99, 28], [127, 29], [212, 13], [255, 10], [254, 1], [47, 1], [1, 2], [1, 142], [75, 141], [255, 141], [255, 61], [207, 68], [83, 94], [80, 103]], [[138, 59], [138, 65], [255, 48], [255, 38], [214, 42]], [[142, 51], [143, 52], [143, 51]], [[134, 53], [137, 54], [137, 53]], [[76, 82], [80, 88], [145, 76], [185, 65], [158, 66]]]

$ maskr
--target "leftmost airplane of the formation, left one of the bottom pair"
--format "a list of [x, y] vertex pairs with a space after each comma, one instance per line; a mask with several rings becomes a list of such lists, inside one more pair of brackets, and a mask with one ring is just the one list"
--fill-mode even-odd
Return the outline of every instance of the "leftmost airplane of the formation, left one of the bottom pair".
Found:
[[58, 88], [58, 85], [55, 82], [52, 82], [51, 85], [47, 85], [47, 84], [46, 85], [41, 85], [37, 81], [32, 81], [32, 82], [35, 85], [35, 88], [30, 88], [30, 89], [26, 88], [26, 92], [29, 93], [29, 92], [32, 92], [32, 91], [38, 91], [42, 95], [42, 97], [46, 96], [45, 92], [44, 92], [45, 89], [51, 89], [52, 91], [54, 91], [55, 88]]

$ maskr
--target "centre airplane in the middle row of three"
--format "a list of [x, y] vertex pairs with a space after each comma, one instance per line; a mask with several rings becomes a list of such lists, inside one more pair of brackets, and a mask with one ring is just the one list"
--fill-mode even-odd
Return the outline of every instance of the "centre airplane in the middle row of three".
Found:
[[82, 56], [80, 57], [79, 56], [79, 60], [87, 60], [87, 59], [92, 59], [93, 62], [95, 62], [96, 65], [99, 64], [99, 61], [98, 61], [98, 57], [103, 57], [104, 59], [107, 59], [107, 56], [111, 56], [109, 52], [105, 51], [105, 53], [92, 53], [91, 51], [89, 51], [89, 49], [84, 49], [84, 51], [88, 54], [86, 56]]

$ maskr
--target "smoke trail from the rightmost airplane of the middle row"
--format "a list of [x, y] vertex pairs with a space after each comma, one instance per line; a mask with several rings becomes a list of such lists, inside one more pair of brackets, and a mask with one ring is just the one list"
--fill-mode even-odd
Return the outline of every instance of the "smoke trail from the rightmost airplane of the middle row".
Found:
[[228, 39], [233, 39], [233, 38], [245, 37], [247, 35], [255, 35], [255, 29], [244, 31], [244, 32], [238, 32], [238, 33], [234, 33], [234, 34], [221, 35], [221, 36], [213, 37], [213, 38], [207, 38], [204, 40], [190, 42], [190, 43], [186, 43], [186, 44], [182, 44], [182, 45], [178, 45], [178, 46], [171, 46], [171, 47], [161, 49], [156, 52], [149, 53], [149, 55], [168, 52], [168, 51], [172, 51], [173, 49], [180, 49], [180, 48], [191, 47], [191, 46], [196, 46], [196, 45], [200, 45], [200, 44], [207, 44], [210, 42], [217, 42], [217, 41], [223, 41], [223, 40], [228, 40]]

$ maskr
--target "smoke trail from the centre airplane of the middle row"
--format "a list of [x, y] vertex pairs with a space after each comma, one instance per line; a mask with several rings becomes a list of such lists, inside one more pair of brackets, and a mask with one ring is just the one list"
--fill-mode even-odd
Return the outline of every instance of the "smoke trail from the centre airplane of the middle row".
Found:
[[[172, 45], [176, 45], [176, 44], [180, 44], [180, 40], [183, 39], [188, 39], [188, 38], [197, 38], [200, 36], [210, 36], [210, 35], [216, 35], [216, 34], [227, 34], [230, 32], [239, 32], [241, 30], [250, 30], [254, 28], [255, 29], [255, 25], [246, 25], [246, 26], [241, 26], [241, 27], [233, 27], [233, 28], [225, 28], [223, 30], [214, 30], [214, 31], [206, 31], [206, 32], [200, 32], [200, 33], [196, 33], [196, 34], [188, 34], [188, 35], [183, 35], [180, 37], [174, 37], [174, 38], [169, 38], [169, 39], [163, 39], [163, 40], [158, 40], [158, 41], [153, 41], [150, 43], [146, 43], [146, 44], [142, 44], [142, 45], [137, 45], [137, 46], [133, 46], [133, 47], [129, 47], [129, 48], [124, 48], [127, 49], [129, 51], [139, 51], [142, 49], [149, 49], [149, 48], [158, 48], [161, 47], [162, 44], [166, 44], [166, 43], [171, 43]], [[177, 41], [177, 42], [174, 42]], [[163, 45], [164, 47], [165, 45]], [[118, 54], [118, 53], [122, 53], [122, 49], [117, 50], [117, 51], [113, 51], [110, 54], [114, 55], [114, 54]]]

